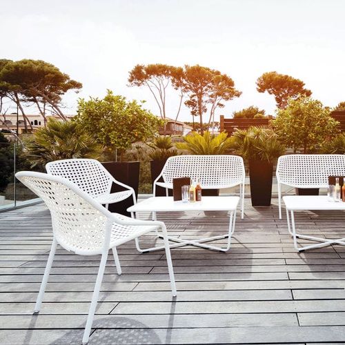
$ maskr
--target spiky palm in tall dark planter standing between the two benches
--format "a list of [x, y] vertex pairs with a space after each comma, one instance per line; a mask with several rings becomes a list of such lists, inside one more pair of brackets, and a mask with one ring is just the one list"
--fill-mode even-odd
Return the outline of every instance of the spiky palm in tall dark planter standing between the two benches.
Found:
[[237, 155], [249, 162], [250, 197], [253, 206], [270, 206], [273, 163], [284, 155], [285, 146], [270, 128], [237, 129], [231, 137]]

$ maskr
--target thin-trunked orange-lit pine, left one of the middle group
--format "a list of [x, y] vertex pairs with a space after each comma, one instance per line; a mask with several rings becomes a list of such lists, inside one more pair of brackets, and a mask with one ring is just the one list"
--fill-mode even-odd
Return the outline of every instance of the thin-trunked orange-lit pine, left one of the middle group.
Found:
[[157, 106], [159, 115], [166, 119], [166, 90], [171, 85], [175, 90], [179, 90], [179, 107], [175, 116], [175, 121], [179, 117], [184, 92], [181, 89], [181, 77], [183, 69], [155, 63], [150, 65], [137, 65], [130, 71], [128, 81], [130, 86], [147, 86], [152, 93]]

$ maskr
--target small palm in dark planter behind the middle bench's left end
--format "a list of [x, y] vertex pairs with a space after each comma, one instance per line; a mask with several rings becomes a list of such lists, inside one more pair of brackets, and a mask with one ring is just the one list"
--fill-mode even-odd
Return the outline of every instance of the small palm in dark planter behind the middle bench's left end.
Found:
[[[151, 184], [157, 179], [158, 175], [161, 173], [161, 170], [166, 164], [166, 160], [169, 157], [179, 155], [179, 152], [172, 144], [171, 137], [167, 135], [160, 135], [155, 137], [152, 143], [148, 144], [152, 150], [148, 152], [148, 157], [152, 159], [150, 161], [150, 170], [151, 170]], [[155, 197], [163, 197], [166, 195], [166, 190], [162, 187], [157, 186]], [[172, 195], [172, 190], [169, 190], [169, 195]]]

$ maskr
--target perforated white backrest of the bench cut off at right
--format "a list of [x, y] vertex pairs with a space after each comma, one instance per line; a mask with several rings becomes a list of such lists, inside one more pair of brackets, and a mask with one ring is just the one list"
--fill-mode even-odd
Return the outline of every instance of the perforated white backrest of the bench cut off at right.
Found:
[[345, 155], [284, 155], [277, 181], [296, 188], [326, 188], [328, 176], [345, 175]]

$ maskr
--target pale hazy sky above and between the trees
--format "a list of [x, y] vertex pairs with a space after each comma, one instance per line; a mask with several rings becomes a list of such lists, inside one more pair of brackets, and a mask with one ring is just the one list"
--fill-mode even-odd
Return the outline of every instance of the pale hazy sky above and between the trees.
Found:
[[[0, 30], [1, 58], [42, 59], [83, 83], [65, 98], [66, 113], [109, 88], [158, 115], [146, 88], [127, 86], [137, 63], [198, 63], [229, 75], [242, 96], [217, 119], [250, 105], [273, 113], [273, 96], [255, 89], [272, 70], [302, 79], [326, 106], [345, 101], [345, 0], [1, 0]], [[180, 119], [191, 121], [187, 108]]]

